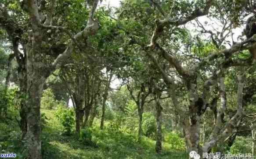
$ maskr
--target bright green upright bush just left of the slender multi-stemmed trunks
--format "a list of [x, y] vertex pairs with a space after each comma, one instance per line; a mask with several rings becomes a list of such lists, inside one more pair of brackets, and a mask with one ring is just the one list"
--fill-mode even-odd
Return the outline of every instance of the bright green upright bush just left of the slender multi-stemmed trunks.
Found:
[[64, 127], [63, 134], [71, 135], [73, 124], [75, 123], [75, 113], [72, 109], [59, 106], [56, 113], [56, 117], [60, 120]]

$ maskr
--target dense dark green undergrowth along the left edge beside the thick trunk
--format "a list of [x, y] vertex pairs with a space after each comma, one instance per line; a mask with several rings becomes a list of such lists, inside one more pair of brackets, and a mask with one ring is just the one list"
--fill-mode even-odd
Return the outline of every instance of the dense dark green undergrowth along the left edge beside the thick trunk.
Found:
[[0, 153], [16, 152], [18, 158], [25, 156], [18, 122], [15, 120], [19, 117], [16, 102], [20, 98], [17, 87], [0, 85], [0, 110], [3, 110], [0, 111]]

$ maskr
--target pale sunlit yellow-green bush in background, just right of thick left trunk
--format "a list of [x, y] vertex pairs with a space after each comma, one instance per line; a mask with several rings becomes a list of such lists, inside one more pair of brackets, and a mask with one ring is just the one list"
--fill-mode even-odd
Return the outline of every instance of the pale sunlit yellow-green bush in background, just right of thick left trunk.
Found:
[[43, 91], [41, 106], [47, 109], [53, 109], [55, 105], [57, 105], [57, 102], [55, 101], [54, 93], [50, 88], [47, 88]]

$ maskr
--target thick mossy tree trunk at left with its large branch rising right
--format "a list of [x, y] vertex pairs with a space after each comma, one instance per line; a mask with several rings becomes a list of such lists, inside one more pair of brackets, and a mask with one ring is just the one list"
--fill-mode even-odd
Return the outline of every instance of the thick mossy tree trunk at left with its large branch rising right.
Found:
[[[54, 8], [54, 0], [50, 1], [50, 8]], [[77, 33], [71, 39], [79, 42], [79, 39], [85, 39], [88, 35], [93, 34], [98, 30], [98, 22], [93, 20], [93, 13], [97, 7], [98, 0], [93, 1], [90, 6], [89, 19], [87, 21], [87, 27], [83, 31]], [[35, 0], [23, 0], [22, 9], [29, 14], [29, 23], [31, 23], [32, 30], [29, 30], [29, 39], [26, 44], [26, 56], [22, 63], [24, 64], [26, 78], [21, 78], [25, 88], [21, 89], [27, 98], [23, 102], [23, 108], [25, 111], [21, 112], [21, 116], [25, 117], [26, 120], [22, 122], [24, 127], [27, 127], [25, 136], [25, 147], [28, 152], [28, 159], [41, 159], [41, 141], [40, 141], [40, 99], [42, 95], [43, 85], [49, 75], [56, 70], [65, 60], [70, 57], [75, 42], [69, 40], [67, 48], [60, 54], [52, 63], [47, 62], [45, 57], [44, 44], [48, 38], [47, 30], [49, 29], [60, 29], [64, 31], [64, 27], [52, 26], [53, 9], [49, 9], [47, 15], [43, 15], [42, 10], [39, 10]], [[6, 6], [3, 6], [6, 7]], [[7, 9], [7, 8], [6, 8]], [[10, 11], [11, 12], [11, 11]], [[8, 11], [7, 11], [8, 13]], [[46, 18], [45, 22], [42, 23], [42, 19]], [[1, 22], [1, 21], [0, 21]], [[18, 25], [17, 25], [18, 26]], [[9, 28], [4, 28], [8, 30]], [[12, 36], [11, 32], [7, 32]], [[17, 49], [17, 48], [16, 48]], [[16, 59], [20, 57], [16, 56]], [[25, 131], [25, 130], [23, 130]]]

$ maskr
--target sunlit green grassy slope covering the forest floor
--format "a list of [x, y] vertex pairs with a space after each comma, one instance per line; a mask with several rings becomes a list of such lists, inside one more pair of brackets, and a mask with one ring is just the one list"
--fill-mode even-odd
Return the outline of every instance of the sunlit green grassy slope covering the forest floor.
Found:
[[[171, 150], [164, 143], [160, 155], [155, 154], [155, 141], [143, 138], [141, 144], [136, 142], [135, 134], [93, 128], [93, 141], [97, 146], [84, 145], [75, 137], [61, 135], [63, 127], [54, 116], [54, 110], [42, 110], [48, 118], [47, 127], [43, 129], [43, 159], [185, 159], [184, 152]], [[97, 123], [97, 122], [96, 122]], [[98, 124], [97, 124], [98, 125]]]

